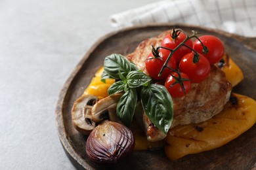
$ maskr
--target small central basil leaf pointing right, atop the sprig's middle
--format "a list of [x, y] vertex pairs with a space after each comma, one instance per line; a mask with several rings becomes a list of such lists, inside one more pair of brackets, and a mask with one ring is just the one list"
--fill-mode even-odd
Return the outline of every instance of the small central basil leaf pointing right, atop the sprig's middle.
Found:
[[139, 71], [131, 71], [127, 75], [127, 85], [129, 88], [137, 88], [150, 82], [151, 78]]

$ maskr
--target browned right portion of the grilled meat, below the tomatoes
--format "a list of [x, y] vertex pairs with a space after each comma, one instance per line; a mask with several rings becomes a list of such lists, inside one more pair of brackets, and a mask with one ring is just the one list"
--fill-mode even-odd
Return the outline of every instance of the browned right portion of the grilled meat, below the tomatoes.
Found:
[[195, 124], [208, 120], [223, 110], [232, 90], [226, 76], [214, 65], [206, 80], [192, 84], [192, 89], [182, 98], [173, 98], [174, 119], [171, 127]]

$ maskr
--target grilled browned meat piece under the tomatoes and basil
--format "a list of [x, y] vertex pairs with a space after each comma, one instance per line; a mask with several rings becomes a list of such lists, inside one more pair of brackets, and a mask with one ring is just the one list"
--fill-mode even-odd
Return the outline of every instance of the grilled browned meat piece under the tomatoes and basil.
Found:
[[[127, 59], [135, 63], [139, 69], [142, 69], [147, 74], [144, 60], [151, 52], [151, 44], [155, 47], [161, 46], [161, 41], [167, 33], [170, 33], [170, 31], [165, 31], [157, 37], [140, 42], [135, 51], [127, 55]], [[232, 86], [226, 80], [224, 72], [212, 65], [211, 73], [206, 80], [199, 84], [192, 84], [190, 92], [184, 97], [173, 98], [174, 118], [171, 127], [203, 122], [218, 114], [228, 101], [231, 90]], [[165, 134], [156, 126], [152, 126], [152, 122], [147, 118], [146, 114], [139, 114], [142, 114], [139, 121], [144, 124], [148, 141], [159, 141], [165, 137]]]

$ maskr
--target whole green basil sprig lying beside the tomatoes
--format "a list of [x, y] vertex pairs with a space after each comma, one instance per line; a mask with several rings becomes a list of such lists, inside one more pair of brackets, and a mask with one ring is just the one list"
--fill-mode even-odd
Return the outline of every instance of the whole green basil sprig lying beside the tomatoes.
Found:
[[173, 120], [173, 101], [164, 86], [151, 84], [152, 79], [121, 54], [112, 54], [105, 58], [101, 78], [103, 82], [106, 78], [117, 80], [108, 89], [108, 94], [123, 93], [116, 110], [117, 116], [125, 126], [130, 126], [133, 120], [138, 99], [137, 91], [140, 90], [144, 112], [158, 129], [167, 133]]

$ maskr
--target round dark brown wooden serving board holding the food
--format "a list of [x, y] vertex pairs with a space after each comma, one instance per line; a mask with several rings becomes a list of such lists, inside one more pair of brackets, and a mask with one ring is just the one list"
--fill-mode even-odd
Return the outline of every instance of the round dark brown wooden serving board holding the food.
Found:
[[[225, 51], [244, 72], [244, 80], [234, 92], [256, 99], [256, 38], [245, 38], [223, 31], [194, 25], [146, 25], [122, 29], [102, 37], [79, 62], [64, 84], [56, 105], [56, 128], [68, 158], [77, 169], [256, 169], [256, 125], [220, 148], [192, 154], [170, 161], [163, 150], [135, 151], [116, 165], [99, 165], [88, 160], [85, 152], [87, 137], [72, 126], [71, 109], [74, 101], [91, 82], [104, 58], [112, 53], [132, 52], [142, 40], [154, 37], [173, 26], [187, 33], [192, 30], [215, 35], [223, 41]], [[255, 110], [256, 112], [256, 110]]]

